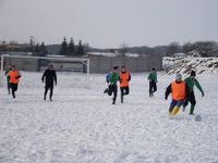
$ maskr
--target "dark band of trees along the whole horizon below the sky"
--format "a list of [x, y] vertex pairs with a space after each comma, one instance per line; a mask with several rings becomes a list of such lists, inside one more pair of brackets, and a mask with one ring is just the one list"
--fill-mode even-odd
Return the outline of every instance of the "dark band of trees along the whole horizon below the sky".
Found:
[[82, 43], [82, 40], [77, 45], [74, 43], [73, 38], [68, 42], [66, 38], [63, 38], [63, 41], [60, 45], [45, 45], [34, 42], [34, 39], [31, 38], [29, 43], [20, 45], [15, 41], [9, 43], [0, 42], [0, 52], [15, 51], [15, 52], [32, 52], [36, 55], [46, 55], [46, 54], [60, 54], [68, 57], [82, 57], [87, 52], [119, 52], [121, 54], [125, 53], [137, 53], [137, 54], [148, 54], [148, 55], [161, 55], [161, 57], [173, 57], [175, 53], [184, 53], [187, 55], [197, 55], [203, 58], [218, 57], [218, 42], [215, 41], [196, 41], [187, 42], [180, 45], [178, 42], [171, 42], [167, 46], [157, 46], [157, 47], [129, 47], [123, 43], [120, 48], [110, 48], [110, 49], [97, 49], [92, 48], [87, 43]]

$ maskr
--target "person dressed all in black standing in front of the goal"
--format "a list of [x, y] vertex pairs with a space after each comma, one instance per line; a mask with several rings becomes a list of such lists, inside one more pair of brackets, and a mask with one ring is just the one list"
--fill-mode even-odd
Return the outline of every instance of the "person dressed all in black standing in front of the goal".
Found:
[[46, 100], [46, 96], [48, 90], [50, 89], [50, 101], [52, 101], [52, 95], [53, 95], [53, 82], [57, 85], [57, 75], [56, 75], [56, 71], [53, 70], [53, 65], [50, 64], [48, 66], [48, 68], [45, 71], [43, 77], [41, 77], [41, 82], [44, 83], [46, 78], [46, 84], [45, 84], [45, 93], [44, 93], [44, 100]]

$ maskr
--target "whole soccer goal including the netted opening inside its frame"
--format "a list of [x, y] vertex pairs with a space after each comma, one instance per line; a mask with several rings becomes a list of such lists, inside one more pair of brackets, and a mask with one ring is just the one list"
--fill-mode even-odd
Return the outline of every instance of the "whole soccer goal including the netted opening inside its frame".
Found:
[[[43, 72], [52, 64], [57, 74], [73, 74], [75, 79], [81, 79], [85, 87], [88, 87], [89, 80], [89, 59], [85, 58], [65, 58], [65, 57], [29, 57], [29, 55], [1, 55], [1, 78], [0, 86], [7, 84], [5, 71], [9, 65], [15, 65], [22, 73], [35, 72], [43, 75]], [[23, 75], [22, 75], [23, 76]]]

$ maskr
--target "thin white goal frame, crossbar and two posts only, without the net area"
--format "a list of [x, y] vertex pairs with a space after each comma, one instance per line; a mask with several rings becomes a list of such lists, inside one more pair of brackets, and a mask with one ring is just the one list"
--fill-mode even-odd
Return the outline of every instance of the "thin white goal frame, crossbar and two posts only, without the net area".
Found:
[[0, 78], [0, 87], [3, 87], [3, 76], [4, 76], [4, 70], [3, 70], [3, 63], [5, 58], [12, 58], [12, 59], [45, 59], [50, 61], [75, 61], [81, 62], [83, 65], [86, 65], [87, 67], [87, 84], [89, 80], [89, 59], [84, 58], [60, 58], [60, 57], [29, 57], [29, 55], [10, 55], [10, 54], [2, 54], [1, 55], [1, 78]]

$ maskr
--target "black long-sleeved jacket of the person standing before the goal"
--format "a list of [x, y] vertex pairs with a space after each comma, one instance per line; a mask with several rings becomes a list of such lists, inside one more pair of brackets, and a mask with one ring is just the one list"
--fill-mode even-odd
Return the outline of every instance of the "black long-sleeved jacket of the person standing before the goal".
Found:
[[41, 82], [44, 82], [45, 77], [46, 77], [46, 86], [53, 86], [53, 80], [57, 85], [57, 75], [55, 70], [46, 70], [41, 77]]

